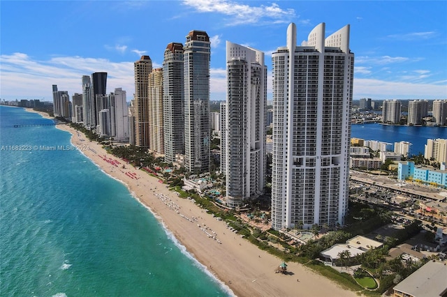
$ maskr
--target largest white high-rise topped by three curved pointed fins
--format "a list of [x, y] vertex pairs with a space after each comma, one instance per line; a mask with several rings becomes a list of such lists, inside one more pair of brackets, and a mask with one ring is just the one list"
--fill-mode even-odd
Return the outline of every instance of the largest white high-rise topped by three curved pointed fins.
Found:
[[272, 54], [272, 227], [343, 224], [348, 208], [354, 54], [349, 25], [324, 37], [325, 24]]

